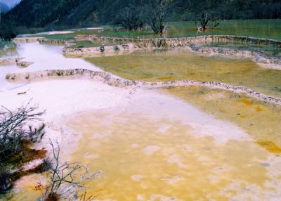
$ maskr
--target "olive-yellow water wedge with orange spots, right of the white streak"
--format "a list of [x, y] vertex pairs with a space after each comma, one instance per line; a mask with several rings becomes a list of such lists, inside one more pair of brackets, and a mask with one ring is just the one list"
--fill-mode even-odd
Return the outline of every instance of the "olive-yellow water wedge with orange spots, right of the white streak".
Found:
[[254, 98], [220, 89], [184, 86], [165, 89], [219, 119], [233, 122], [247, 131], [271, 153], [281, 153], [281, 108]]

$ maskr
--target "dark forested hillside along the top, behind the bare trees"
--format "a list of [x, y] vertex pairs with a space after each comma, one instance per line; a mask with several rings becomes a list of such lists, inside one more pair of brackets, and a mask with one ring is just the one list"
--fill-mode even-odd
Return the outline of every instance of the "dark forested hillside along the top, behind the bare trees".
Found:
[[[22, 0], [2, 17], [14, 26], [79, 27], [114, 22], [126, 7], [145, 6], [151, 0]], [[157, 0], [152, 0], [157, 1]], [[202, 12], [220, 19], [281, 18], [280, 0], [166, 0], [166, 20], [193, 20]]]

